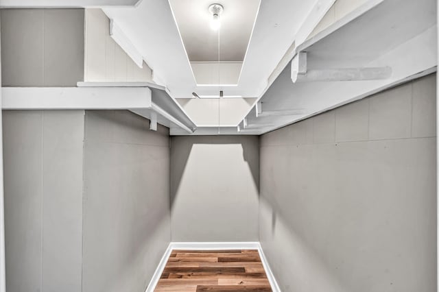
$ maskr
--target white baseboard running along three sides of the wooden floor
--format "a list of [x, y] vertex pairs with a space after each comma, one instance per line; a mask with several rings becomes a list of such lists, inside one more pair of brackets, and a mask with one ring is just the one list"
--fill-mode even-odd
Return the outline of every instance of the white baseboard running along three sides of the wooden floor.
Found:
[[267, 258], [265, 258], [265, 254], [263, 254], [261, 244], [259, 244], [257, 241], [207, 243], [171, 242], [169, 243], [165, 254], [163, 254], [160, 263], [158, 263], [157, 269], [154, 272], [150, 284], [148, 284], [145, 292], [153, 292], [156, 288], [158, 280], [160, 280], [163, 270], [165, 269], [167, 260], [169, 256], [171, 256], [172, 250], [258, 250], [262, 265], [265, 269], [265, 273], [267, 274], [268, 282], [270, 282], [273, 292], [281, 292], [281, 289], [279, 289], [276, 279], [273, 276], [272, 270], [270, 269], [270, 265], [268, 265]]

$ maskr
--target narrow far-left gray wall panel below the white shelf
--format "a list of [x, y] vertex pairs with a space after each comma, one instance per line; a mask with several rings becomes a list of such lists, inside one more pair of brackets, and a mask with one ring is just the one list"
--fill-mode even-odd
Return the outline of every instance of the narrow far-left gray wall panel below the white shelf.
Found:
[[6, 289], [81, 289], [84, 111], [3, 111]]

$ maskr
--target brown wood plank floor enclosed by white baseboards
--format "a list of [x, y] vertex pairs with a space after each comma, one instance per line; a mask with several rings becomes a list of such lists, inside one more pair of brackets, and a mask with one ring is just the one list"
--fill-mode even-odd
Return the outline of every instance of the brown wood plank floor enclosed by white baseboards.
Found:
[[272, 291], [257, 250], [173, 250], [155, 291]]

